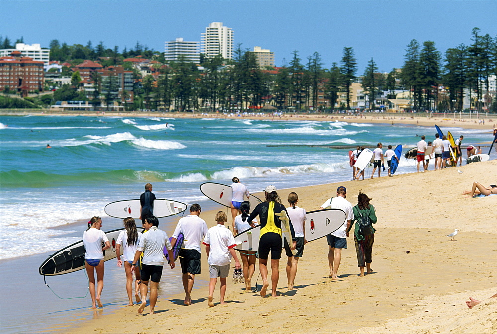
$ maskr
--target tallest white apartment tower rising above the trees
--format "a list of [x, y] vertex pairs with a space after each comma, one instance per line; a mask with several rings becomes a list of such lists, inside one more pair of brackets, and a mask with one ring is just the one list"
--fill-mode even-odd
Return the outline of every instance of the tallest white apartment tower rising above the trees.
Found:
[[224, 27], [222, 22], [212, 22], [201, 34], [201, 51], [207, 58], [221, 55], [225, 59], [233, 57], [233, 29]]

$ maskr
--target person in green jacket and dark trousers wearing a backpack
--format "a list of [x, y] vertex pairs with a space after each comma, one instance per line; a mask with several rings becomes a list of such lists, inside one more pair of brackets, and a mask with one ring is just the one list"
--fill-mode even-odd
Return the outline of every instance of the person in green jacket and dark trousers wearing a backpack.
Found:
[[[357, 196], [357, 205], [352, 208], [354, 212], [355, 219], [352, 220], [352, 225], [361, 219], [360, 217], [369, 217], [371, 224], [376, 224], [378, 218], [376, 217], [376, 210], [373, 205], [369, 204], [369, 201], [372, 198], [369, 198], [365, 193], [359, 191], [359, 195]], [[359, 268], [361, 269], [361, 273], [359, 277], [364, 277], [364, 267], [366, 267], [366, 273], [371, 274], [373, 270], [371, 270], [371, 253], [373, 251], [373, 243], [374, 243], [374, 232], [376, 231], [371, 225], [371, 234], [364, 235], [360, 230], [359, 223], [355, 224], [354, 230], [354, 242], [355, 242], [355, 250], [357, 253], [357, 262], [359, 263]], [[364, 265], [364, 263], [366, 263]]]

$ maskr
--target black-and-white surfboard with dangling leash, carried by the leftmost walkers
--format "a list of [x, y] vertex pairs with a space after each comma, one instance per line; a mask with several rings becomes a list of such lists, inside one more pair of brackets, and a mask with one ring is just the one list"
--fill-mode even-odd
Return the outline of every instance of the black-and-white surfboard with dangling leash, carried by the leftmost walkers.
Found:
[[[119, 233], [124, 229], [112, 230], [105, 232], [105, 235], [109, 239], [110, 248], [106, 249], [103, 253], [103, 260], [108, 261], [117, 257], [116, 254], [116, 240], [119, 237]], [[143, 228], [138, 228], [139, 232], [143, 232]], [[123, 254], [124, 247], [121, 247], [121, 253]], [[75, 272], [84, 268], [84, 246], [83, 240], [80, 240], [74, 244], [64, 247], [60, 251], [56, 251], [46, 259], [42, 265], [40, 265], [39, 272], [40, 275], [54, 276], [63, 275], [70, 272]]]

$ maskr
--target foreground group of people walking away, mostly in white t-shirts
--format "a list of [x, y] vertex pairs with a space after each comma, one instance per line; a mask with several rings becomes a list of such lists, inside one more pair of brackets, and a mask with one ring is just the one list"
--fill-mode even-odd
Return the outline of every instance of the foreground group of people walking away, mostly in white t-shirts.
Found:
[[[235, 180], [236, 179], [236, 180]], [[236, 182], [235, 182], [236, 181]], [[276, 187], [270, 185], [264, 189], [264, 201], [259, 203], [253, 210], [250, 202], [243, 201], [243, 194], [250, 196], [245, 186], [238, 178], [233, 182], [238, 184], [242, 191], [242, 197], [235, 197], [232, 203], [232, 213], [234, 214], [232, 227], [233, 231], [226, 228], [227, 215], [223, 211], [217, 212], [215, 216], [216, 225], [207, 228], [206, 222], [201, 219], [201, 207], [199, 204], [190, 206], [190, 214], [179, 219], [171, 240], [166, 232], [159, 229], [158, 219], [151, 214], [145, 213], [141, 216], [144, 232], [137, 230], [136, 222], [128, 217], [123, 220], [125, 229], [119, 234], [116, 242], [117, 265], [124, 264], [126, 275], [126, 291], [130, 306], [135, 302], [140, 304], [138, 313], [143, 313], [147, 305], [147, 293], [150, 286], [150, 314], [154, 313], [157, 302], [158, 285], [161, 280], [164, 265], [164, 248], [168, 252], [169, 266], [174, 269], [176, 266], [173, 248], [182, 234], [184, 245], [179, 251], [180, 264], [182, 270], [182, 282], [185, 291], [184, 305], [191, 305], [191, 293], [195, 281], [195, 275], [200, 274], [201, 268], [201, 247], [203, 242], [207, 253], [209, 266], [209, 294], [208, 306], [213, 307], [213, 294], [217, 280], [220, 280], [220, 304], [224, 304], [226, 293], [226, 280], [230, 273], [231, 259], [235, 261], [234, 282], [245, 283], [245, 290], [251, 291], [252, 277], [255, 272], [256, 259], [259, 260], [259, 271], [262, 278], [262, 288], [260, 295], [266, 297], [269, 287], [268, 265], [271, 267], [271, 296], [276, 296], [276, 288], [279, 281], [279, 262], [282, 249], [287, 255], [287, 287], [294, 289], [295, 277], [299, 259], [303, 256], [304, 246], [307, 243], [305, 236], [306, 210], [298, 206], [298, 195], [291, 192], [288, 195], [288, 206], [282, 204]], [[245, 189], [244, 189], [245, 188]], [[147, 184], [146, 191], [151, 191], [152, 186]], [[237, 194], [235, 194], [237, 196]], [[151, 197], [150, 194], [147, 200]], [[347, 237], [355, 222], [354, 243], [356, 246], [359, 276], [372, 273], [370, 267], [372, 262], [372, 248], [374, 242], [375, 224], [377, 217], [375, 208], [369, 201], [366, 194], [359, 192], [358, 204], [352, 207], [346, 200], [347, 189], [343, 186], [336, 190], [336, 197], [329, 198], [320, 207], [323, 209], [340, 209], [346, 214], [346, 219], [342, 226], [327, 236], [329, 245], [328, 262], [329, 277], [338, 279], [337, 272], [341, 261], [341, 250], [347, 248]], [[240, 199], [242, 200], [240, 202]], [[238, 203], [237, 203], [238, 202]], [[147, 207], [142, 203], [142, 208]], [[146, 208], [148, 210], [148, 208]], [[285, 211], [290, 220], [290, 232], [292, 243], [284, 243], [281, 213]], [[258, 219], [257, 219], [258, 218]], [[234, 236], [240, 234], [256, 225], [260, 225], [260, 239], [258, 251], [239, 251], [239, 257], [235, 252], [236, 246]], [[103, 251], [110, 248], [110, 243], [105, 233], [101, 231], [102, 220], [100, 217], [93, 217], [88, 223], [88, 230], [83, 234], [83, 243], [86, 249], [85, 266], [90, 281], [90, 294], [92, 307], [102, 307], [100, 301], [103, 290], [104, 261]], [[105, 245], [102, 247], [102, 245]], [[121, 257], [120, 251], [123, 249]], [[294, 251], [296, 250], [296, 251]], [[269, 262], [270, 257], [270, 262]], [[97, 288], [95, 290], [94, 271], [97, 273]], [[133, 276], [135, 277], [133, 282]], [[133, 286], [135, 293], [133, 296]], [[134, 298], [133, 298], [134, 297]], [[134, 299], [134, 300], [133, 300]]]

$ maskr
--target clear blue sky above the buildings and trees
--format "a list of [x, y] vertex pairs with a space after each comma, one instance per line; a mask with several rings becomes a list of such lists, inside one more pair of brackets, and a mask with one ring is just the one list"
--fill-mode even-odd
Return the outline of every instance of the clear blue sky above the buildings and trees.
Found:
[[373, 58], [381, 71], [403, 64], [406, 45], [432, 40], [442, 53], [471, 43], [471, 29], [497, 34], [496, 0], [1, 0], [0, 34], [48, 47], [50, 40], [157, 51], [183, 37], [200, 41], [210, 22], [234, 30], [235, 44], [275, 53], [277, 66], [297, 50], [324, 67], [353, 47], [358, 74]]

